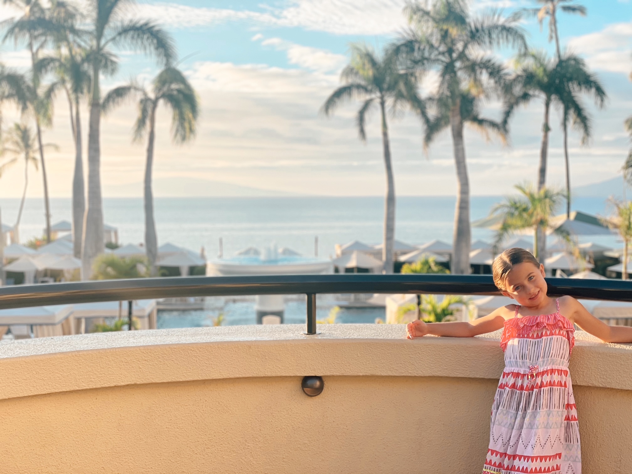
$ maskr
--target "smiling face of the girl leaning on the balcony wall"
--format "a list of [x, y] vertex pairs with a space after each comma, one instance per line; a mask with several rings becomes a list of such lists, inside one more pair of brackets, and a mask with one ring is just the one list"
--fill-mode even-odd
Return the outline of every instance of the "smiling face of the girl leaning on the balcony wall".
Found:
[[516, 300], [519, 305], [537, 307], [547, 297], [544, 265], [536, 267], [531, 262], [514, 265], [505, 279], [505, 288], [502, 294]]

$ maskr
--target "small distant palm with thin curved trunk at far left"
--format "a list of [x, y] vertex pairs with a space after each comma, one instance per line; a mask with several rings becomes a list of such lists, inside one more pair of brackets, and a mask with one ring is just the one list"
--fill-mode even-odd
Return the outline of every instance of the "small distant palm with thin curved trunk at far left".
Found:
[[[42, 146], [56, 148], [56, 145], [52, 145], [50, 143]], [[13, 226], [13, 236], [16, 242], [20, 241], [20, 219], [22, 217], [22, 210], [24, 209], [24, 202], [27, 197], [28, 165], [32, 165], [36, 170], [39, 169], [39, 163], [36, 156], [37, 150], [38, 146], [36, 143], [36, 137], [33, 135], [33, 131], [29, 126], [21, 123], [15, 123], [12, 128], [9, 128], [9, 131], [6, 132], [6, 136], [4, 137], [3, 147], [0, 150], [3, 155], [13, 155], [13, 158], [0, 165], [0, 176], [2, 176], [8, 167], [15, 165], [22, 159], [24, 160], [24, 189], [20, 200], [18, 218], [16, 219], [15, 226]]]

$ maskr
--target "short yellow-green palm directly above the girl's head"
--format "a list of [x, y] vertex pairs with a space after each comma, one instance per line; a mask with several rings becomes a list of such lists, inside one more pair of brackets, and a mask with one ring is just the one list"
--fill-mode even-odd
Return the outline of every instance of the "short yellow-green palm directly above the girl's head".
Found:
[[569, 235], [561, 228], [551, 225], [551, 218], [564, 199], [564, 192], [549, 188], [535, 190], [532, 185], [514, 186], [520, 193], [518, 197], [506, 197], [504, 202], [492, 208], [491, 216], [501, 224], [496, 231], [494, 248], [516, 232], [533, 230], [533, 256], [544, 260], [542, 245], [538, 243], [540, 234], [552, 230], [563, 240], [569, 241]]

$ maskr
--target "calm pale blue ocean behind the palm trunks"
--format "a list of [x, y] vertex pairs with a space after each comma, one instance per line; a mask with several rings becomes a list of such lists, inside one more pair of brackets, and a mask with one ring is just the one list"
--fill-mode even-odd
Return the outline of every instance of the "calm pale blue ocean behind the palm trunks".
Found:
[[[501, 202], [499, 196], [471, 198], [471, 219], [480, 219]], [[19, 199], [0, 199], [2, 219], [15, 224]], [[413, 245], [439, 239], [452, 241], [454, 197], [403, 196], [397, 199], [395, 236]], [[119, 229], [122, 243], [143, 241], [142, 198], [104, 198], [107, 224]], [[605, 199], [576, 198], [573, 209], [590, 214], [608, 212]], [[562, 209], [559, 212], [563, 212]], [[71, 220], [70, 198], [51, 199], [51, 222]], [[243, 197], [156, 198], [155, 220], [159, 244], [171, 242], [198, 252], [204, 246], [212, 259], [223, 242], [224, 257], [248, 246], [262, 248], [276, 243], [305, 256], [334, 255], [334, 245], [351, 240], [381, 243], [384, 220], [382, 197]], [[44, 232], [42, 198], [27, 198], [20, 224], [21, 240]], [[490, 240], [492, 232], [472, 229], [473, 240]], [[586, 239], [583, 239], [583, 241]], [[604, 245], [617, 245], [611, 237], [592, 237]]]

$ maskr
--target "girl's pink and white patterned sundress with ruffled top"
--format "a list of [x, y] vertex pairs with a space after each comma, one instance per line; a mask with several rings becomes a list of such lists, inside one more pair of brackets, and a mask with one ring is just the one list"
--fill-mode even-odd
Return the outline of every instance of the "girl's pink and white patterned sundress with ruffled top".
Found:
[[580, 474], [577, 409], [568, 361], [573, 324], [559, 312], [507, 319], [505, 370], [494, 397], [483, 474]]

